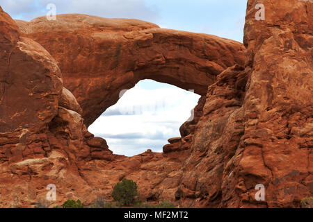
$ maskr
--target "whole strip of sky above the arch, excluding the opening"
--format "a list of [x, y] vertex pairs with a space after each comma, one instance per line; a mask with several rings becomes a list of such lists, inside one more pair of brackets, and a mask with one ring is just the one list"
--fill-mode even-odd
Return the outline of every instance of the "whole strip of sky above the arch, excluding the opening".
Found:
[[14, 19], [45, 15], [48, 3], [57, 14], [143, 19], [161, 27], [208, 33], [242, 42], [246, 0], [1, 0]]

